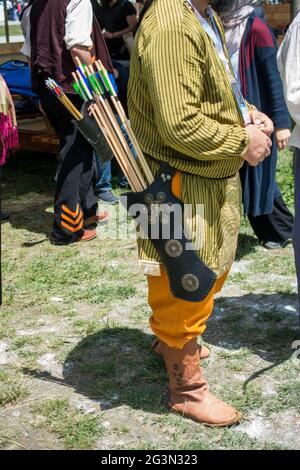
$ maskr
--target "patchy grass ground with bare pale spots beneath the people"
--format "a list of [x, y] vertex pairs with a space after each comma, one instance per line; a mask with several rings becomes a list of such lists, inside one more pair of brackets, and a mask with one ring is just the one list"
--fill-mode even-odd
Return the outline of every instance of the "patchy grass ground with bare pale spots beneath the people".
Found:
[[[291, 155], [279, 163], [292, 205]], [[49, 243], [54, 173], [53, 157], [40, 154], [15, 156], [4, 168], [11, 218], [2, 226], [0, 447], [299, 449], [291, 246], [267, 251], [242, 225], [237, 261], [203, 337], [211, 348], [203, 365], [211, 389], [245, 418], [208, 429], [166, 409], [134, 240]]]

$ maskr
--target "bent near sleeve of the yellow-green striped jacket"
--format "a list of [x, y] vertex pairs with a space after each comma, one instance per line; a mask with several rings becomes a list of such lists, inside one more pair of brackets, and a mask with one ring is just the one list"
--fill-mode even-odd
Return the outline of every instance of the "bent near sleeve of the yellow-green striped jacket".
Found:
[[178, 28], [158, 31], [143, 52], [141, 67], [158, 132], [166, 145], [189, 157], [239, 157], [248, 145], [245, 129], [221, 124], [201, 112], [201, 102], [216, 97], [213, 89], [204, 89], [207, 64], [200, 50], [193, 35]]

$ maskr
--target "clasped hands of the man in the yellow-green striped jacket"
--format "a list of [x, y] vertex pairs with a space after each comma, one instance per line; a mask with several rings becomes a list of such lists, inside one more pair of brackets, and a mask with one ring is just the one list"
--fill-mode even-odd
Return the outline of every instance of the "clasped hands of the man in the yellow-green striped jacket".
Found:
[[249, 124], [246, 131], [249, 135], [249, 145], [242, 158], [250, 166], [257, 166], [271, 153], [271, 139], [254, 124]]

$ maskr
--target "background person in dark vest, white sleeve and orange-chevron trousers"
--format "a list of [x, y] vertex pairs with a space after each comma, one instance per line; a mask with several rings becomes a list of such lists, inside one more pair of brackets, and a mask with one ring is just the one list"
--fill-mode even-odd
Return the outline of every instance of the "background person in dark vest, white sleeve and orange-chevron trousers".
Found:
[[72, 87], [75, 57], [89, 64], [96, 56], [110, 73], [113, 67], [90, 0], [35, 0], [30, 9], [26, 50], [30, 51], [33, 90], [60, 141], [51, 241], [63, 245], [89, 241], [97, 236], [95, 224], [108, 217], [107, 212], [97, 213], [94, 150], [74, 132], [72, 116], [47, 90], [45, 79], [52, 77], [60, 83], [80, 109], [82, 100]]

